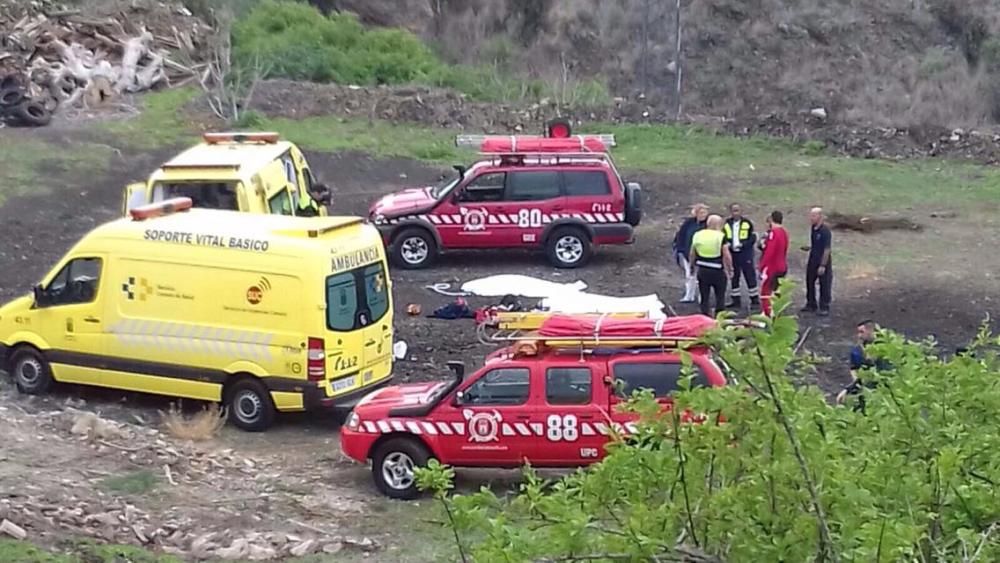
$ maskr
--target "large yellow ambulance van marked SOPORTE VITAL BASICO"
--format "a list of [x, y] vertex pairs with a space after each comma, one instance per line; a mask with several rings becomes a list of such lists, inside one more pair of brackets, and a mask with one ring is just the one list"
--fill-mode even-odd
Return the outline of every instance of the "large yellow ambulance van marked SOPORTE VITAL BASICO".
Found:
[[346, 409], [389, 381], [392, 293], [374, 227], [191, 206], [97, 227], [0, 308], [20, 391], [65, 382], [217, 401], [260, 431], [276, 411]]

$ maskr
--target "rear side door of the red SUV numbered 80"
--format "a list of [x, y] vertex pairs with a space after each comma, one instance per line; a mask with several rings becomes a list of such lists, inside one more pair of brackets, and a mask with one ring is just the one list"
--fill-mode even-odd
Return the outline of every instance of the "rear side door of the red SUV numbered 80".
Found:
[[566, 213], [559, 172], [554, 169], [508, 171], [504, 203], [503, 212], [510, 222], [506, 246], [538, 246], [545, 226]]

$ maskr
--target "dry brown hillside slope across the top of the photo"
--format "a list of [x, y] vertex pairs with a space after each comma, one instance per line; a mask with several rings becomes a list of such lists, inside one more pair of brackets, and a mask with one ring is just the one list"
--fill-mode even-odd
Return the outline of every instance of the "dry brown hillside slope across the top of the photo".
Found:
[[[313, 0], [412, 29], [450, 58], [551, 80], [604, 77], [672, 108], [674, 2]], [[885, 126], [1000, 118], [1000, 4], [991, 0], [684, 0], [685, 112], [825, 107]]]

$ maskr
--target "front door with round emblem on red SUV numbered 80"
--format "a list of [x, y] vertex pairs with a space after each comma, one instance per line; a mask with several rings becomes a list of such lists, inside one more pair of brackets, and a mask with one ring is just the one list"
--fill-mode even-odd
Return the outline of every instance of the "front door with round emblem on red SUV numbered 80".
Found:
[[483, 171], [434, 208], [428, 219], [437, 227], [445, 248], [511, 245], [514, 233], [504, 202], [506, 179], [504, 172]]

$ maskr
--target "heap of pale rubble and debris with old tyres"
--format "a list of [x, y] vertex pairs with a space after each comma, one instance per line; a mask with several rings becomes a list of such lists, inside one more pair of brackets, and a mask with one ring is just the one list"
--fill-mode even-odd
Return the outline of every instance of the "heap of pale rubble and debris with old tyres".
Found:
[[211, 33], [179, 4], [112, 4], [93, 16], [0, 0], [0, 121], [46, 125], [65, 108], [197, 80]]

